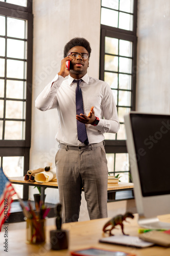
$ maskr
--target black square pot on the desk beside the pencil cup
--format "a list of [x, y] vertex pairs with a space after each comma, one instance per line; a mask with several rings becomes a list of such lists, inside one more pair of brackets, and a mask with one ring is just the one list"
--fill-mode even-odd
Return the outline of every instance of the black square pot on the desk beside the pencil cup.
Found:
[[51, 230], [50, 243], [53, 250], [68, 249], [68, 230]]

